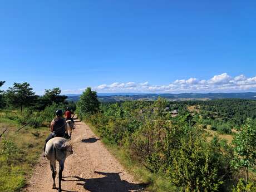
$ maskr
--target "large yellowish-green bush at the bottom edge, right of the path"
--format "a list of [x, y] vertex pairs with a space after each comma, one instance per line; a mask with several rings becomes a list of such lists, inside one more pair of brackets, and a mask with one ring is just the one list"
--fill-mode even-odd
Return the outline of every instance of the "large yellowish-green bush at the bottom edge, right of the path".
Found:
[[180, 149], [172, 151], [171, 182], [185, 191], [219, 191], [225, 171], [214, 152], [200, 137], [184, 138]]

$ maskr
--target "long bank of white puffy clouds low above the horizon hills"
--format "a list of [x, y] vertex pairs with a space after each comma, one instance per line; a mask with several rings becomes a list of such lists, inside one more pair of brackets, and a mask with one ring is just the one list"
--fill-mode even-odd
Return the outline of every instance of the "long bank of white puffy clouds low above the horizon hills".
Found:
[[[256, 91], [256, 76], [247, 78], [244, 75], [236, 77], [227, 73], [215, 75], [209, 80], [190, 77], [187, 80], [176, 80], [169, 85], [150, 85], [148, 81], [114, 82], [93, 87], [96, 91], [104, 92], [239, 92]], [[83, 90], [83, 89], [82, 89]]]

